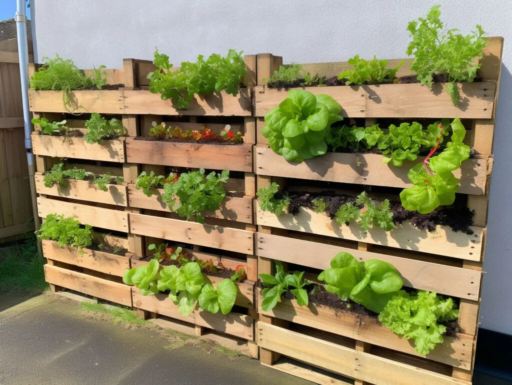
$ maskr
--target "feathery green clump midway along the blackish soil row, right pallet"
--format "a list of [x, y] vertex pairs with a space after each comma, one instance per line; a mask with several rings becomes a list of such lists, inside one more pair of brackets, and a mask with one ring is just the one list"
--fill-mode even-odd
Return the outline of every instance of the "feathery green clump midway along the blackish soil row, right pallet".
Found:
[[[366, 207], [365, 211], [359, 207]], [[395, 226], [393, 223], [393, 212], [388, 199], [377, 202], [371, 199], [365, 191], [361, 192], [355, 202], [344, 203], [335, 214], [338, 224], [348, 224], [351, 220], [358, 220], [357, 224], [361, 230], [367, 231], [374, 225], [390, 231]]]

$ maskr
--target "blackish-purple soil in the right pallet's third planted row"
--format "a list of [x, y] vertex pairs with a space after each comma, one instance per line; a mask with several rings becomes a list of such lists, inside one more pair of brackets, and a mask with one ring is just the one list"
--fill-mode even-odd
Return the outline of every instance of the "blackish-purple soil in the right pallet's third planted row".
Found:
[[[280, 195], [282, 196], [283, 193]], [[334, 219], [339, 207], [345, 203], [355, 201], [354, 196], [335, 194], [334, 192], [321, 192], [311, 194], [308, 192], [293, 191], [289, 192], [291, 201], [288, 211], [292, 215], [297, 215], [301, 207], [313, 209], [313, 199], [321, 198], [328, 203], [326, 212], [329, 217]], [[277, 195], [280, 197], [279, 195]], [[360, 209], [362, 207], [359, 207]], [[467, 207], [444, 207], [429, 214], [420, 214], [417, 211], [407, 211], [399, 202], [392, 202], [391, 211], [393, 212], [393, 222], [400, 224], [404, 220], [410, 220], [411, 224], [420, 229], [433, 232], [437, 225], [448, 226], [454, 232], [461, 231], [467, 235], [472, 235], [473, 230], [470, 226], [473, 224], [474, 212]]]

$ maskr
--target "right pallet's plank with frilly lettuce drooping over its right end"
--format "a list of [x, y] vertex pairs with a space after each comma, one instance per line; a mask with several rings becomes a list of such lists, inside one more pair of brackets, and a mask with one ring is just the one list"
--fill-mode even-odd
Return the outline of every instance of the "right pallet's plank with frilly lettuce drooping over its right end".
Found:
[[[258, 304], [261, 304], [262, 301], [261, 292], [258, 290]], [[309, 303], [308, 306], [299, 306], [296, 300], [283, 298], [281, 303], [278, 303], [271, 311], [264, 311], [258, 305], [258, 312], [281, 320], [354, 338], [363, 343], [428, 358], [466, 370], [471, 369], [473, 338], [470, 335], [444, 336], [443, 343], [438, 344], [434, 350], [425, 356], [414, 350], [413, 341], [393, 333], [386, 326], [380, 324], [377, 319], [348, 311], [315, 306], [312, 303]]]

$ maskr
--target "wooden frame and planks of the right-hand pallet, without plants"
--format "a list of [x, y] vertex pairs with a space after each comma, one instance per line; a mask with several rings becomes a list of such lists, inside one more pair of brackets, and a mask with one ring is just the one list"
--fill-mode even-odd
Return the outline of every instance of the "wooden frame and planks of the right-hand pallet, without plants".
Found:
[[[324, 213], [302, 207], [298, 215], [277, 217], [262, 211], [258, 202], [254, 203], [259, 273], [271, 273], [272, 260], [282, 261], [285, 266], [293, 264], [294, 269], [298, 265], [307, 271], [319, 272], [328, 268], [330, 260], [342, 251], [359, 261], [372, 258], [387, 261], [397, 268], [404, 286], [454, 298], [460, 309], [458, 332], [444, 336], [443, 344], [421, 356], [414, 350], [413, 342], [395, 335], [371, 316], [311, 302], [301, 307], [295, 300], [288, 299], [283, 299], [271, 311], [264, 311], [261, 291], [257, 289], [257, 338], [263, 365], [319, 383], [346, 383], [350, 381], [348, 378], [357, 384], [471, 383], [502, 46], [502, 38], [488, 39], [485, 56], [481, 58], [481, 81], [459, 84], [462, 105], [458, 107], [452, 104], [449, 95], [436, 92], [436, 87], [444, 88], [443, 84], [434, 85], [432, 90], [419, 84], [304, 88], [313, 94], [332, 96], [342, 105], [345, 117], [365, 119], [366, 126], [380, 119], [390, 122], [391, 118], [397, 122], [463, 119], [468, 130], [465, 143], [474, 148], [474, 155], [463, 163], [456, 176], [461, 183], [458, 194], [467, 197], [467, 207], [474, 211], [473, 234], [456, 233], [444, 226], [429, 233], [408, 222], [390, 232], [375, 228], [361, 232], [357, 224], [339, 226]], [[343, 183], [343, 191], [350, 187], [360, 191], [362, 186], [381, 189], [410, 186], [407, 171], [413, 166], [412, 162], [398, 168], [384, 164], [378, 154], [331, 152], [302, 163], [289, 163], [275, 154], [261, 134], [265, 126], [263, 117], [286, 98], [287, 91], [269, 88], [263, 78], [268, 79], [281, 63], [282, 58], [270, 54], [257, 58], [254, 170], [258, 188], [274, 181], [281, 187], [289, 184], [296, 191], [320, 191], [318, 182], [330, 183], [329, 189], [332, 183]], [[347, 63], [303, 64], [303, 69], [332, 77], [347, 66]], [[406, 66], [397, 76], [410, 74], [404, 69]], [[421, 161], [419, 157], [416, 162]], [[312, 365], [312, 368], [305, 369], [293, 360]]]

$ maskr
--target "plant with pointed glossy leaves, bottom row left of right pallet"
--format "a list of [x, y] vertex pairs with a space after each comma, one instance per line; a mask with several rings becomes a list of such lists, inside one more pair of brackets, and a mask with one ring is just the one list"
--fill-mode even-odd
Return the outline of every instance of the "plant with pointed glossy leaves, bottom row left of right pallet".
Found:
[[[260, 274], [260, 279], [265, 287], [262, 290], [262, 309], [264, 311], [272, 310], [278, 302], [281, 302], [281, 296], [287, 290], [290, 290], [297, 299], [300, 306], [308, 306], [308, 292], [304, 286], [312, 282], [304, 279], [304, 271], [294, 271], [293, 274], [286, 274], [281, 261], [274, 261], [275, 275]], [[293, 287], [293, 288], [292, 288]], [[292, 288], [292, 289], [291, 289]]]

